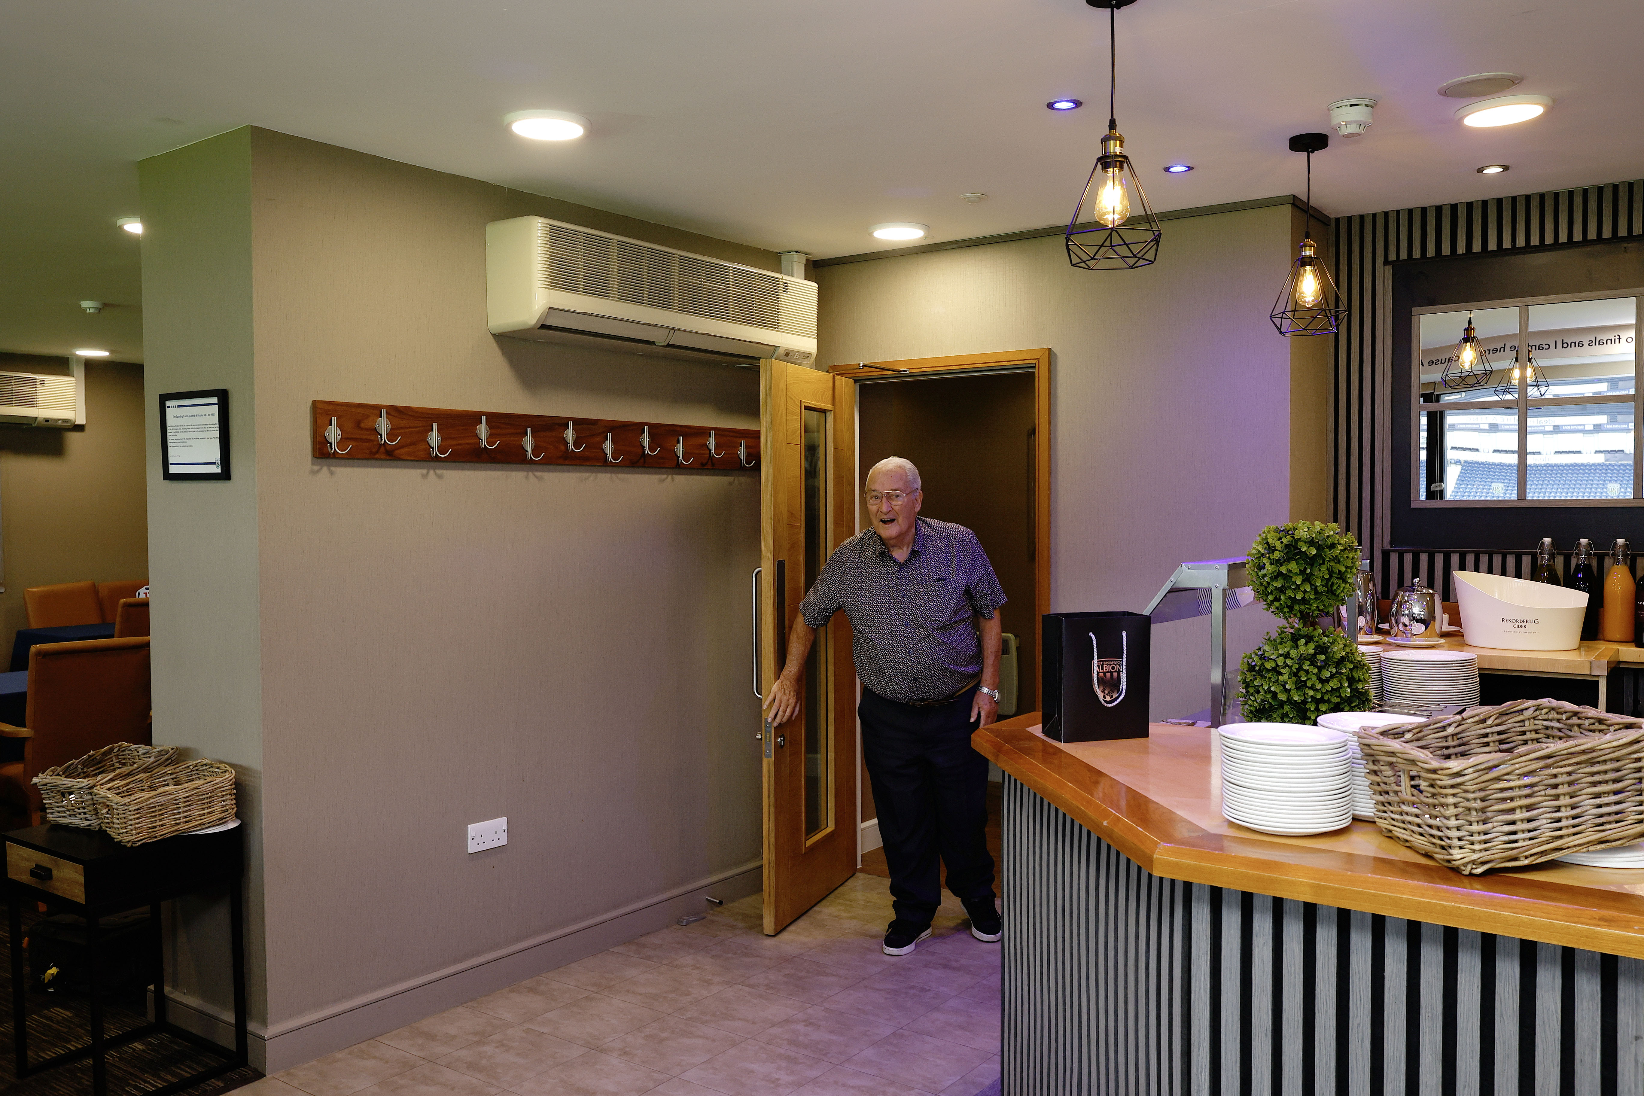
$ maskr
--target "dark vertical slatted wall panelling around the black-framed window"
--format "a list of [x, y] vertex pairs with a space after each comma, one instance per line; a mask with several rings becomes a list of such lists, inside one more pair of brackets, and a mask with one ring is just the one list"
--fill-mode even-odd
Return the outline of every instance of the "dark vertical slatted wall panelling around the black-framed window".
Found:
[[[1337, 217], [1332, 255], [1348, 315], [1332, 376], [1333, 519], [1360, 544], [1386, 547], [1391, 301], [1386, 263], [1644, 235], [1644, 179], [1481, 202]], [[1489, 547], [1489, 546], [1481, 546]]]

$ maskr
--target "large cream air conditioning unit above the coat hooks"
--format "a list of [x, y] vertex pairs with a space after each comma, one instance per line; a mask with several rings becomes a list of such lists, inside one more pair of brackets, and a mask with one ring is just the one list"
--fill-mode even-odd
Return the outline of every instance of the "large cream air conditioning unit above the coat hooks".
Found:
[[710, 361], [817, 355], [817, 286], [546, 217], [485, 225], [493, 335], [597, 337]]

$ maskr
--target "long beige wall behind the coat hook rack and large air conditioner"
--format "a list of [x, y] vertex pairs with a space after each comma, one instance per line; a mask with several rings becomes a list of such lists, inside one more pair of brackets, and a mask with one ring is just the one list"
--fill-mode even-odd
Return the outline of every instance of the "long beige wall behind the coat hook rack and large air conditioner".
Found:
[[[250, 363], [237, 450], [255, 447], [225, 486], [255, 509], [224, 519], [247, 541], [233, 629], [255, 649], [225, 657], [255, 688], [232, 733], [261, 758], [279, 1068], [699, 912], [715, 886], [756, 889], [760, 856], [758, 478], [317, 462], [309, 401], [751, 426], [758, 376], [492, 337], [485, 223], [562, 214], [549, 199], [265, 130], [207, 145], [235, 163], [196, 146], [143, 168], [145, 187], [182, 176], [178, 192], [202, 186], [194, 169], [248, 181], [233, 260], [252, 291], [230, 335]], [[159, 202], [145, 189], [156, 238], [189, 220]], [[615, 230], [751, 251], [640, 228]], [[156, 314], [199, 319], [191, 278], [145, 283], [151, 332]], [[210, 357], [151, 335], [156, 383]], [[212, 506], [197, 490], [156, 488], [156, 518]], [[156, 560], [189, 554], [153, 527]], [[215, 616], [156, 613], [156, 649]], [[156, 725], [207, 739], [184, 680], [156, 662]], [[467, 854], [467, 825], [496, 815], [508, 846]]]

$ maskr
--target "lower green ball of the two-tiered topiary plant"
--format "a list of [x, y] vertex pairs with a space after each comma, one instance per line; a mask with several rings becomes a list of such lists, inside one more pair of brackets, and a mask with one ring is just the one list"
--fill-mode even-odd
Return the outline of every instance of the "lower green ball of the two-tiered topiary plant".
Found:
[[1251, 723], [1307, 723], [1369, 710], [1369, 664], [1351, 636], [1286, 624], [1240, 659], [1240, 710]]

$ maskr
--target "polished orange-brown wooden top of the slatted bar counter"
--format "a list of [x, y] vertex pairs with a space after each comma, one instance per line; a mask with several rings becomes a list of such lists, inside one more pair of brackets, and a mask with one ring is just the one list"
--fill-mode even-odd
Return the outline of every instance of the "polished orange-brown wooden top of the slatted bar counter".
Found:
[[1055, 743], [1039, 713], [995, 723], [975, 748], [1146, 871], [1302, 902], [1644, 958], [1644, 869], [1554, 864], [1463, 876], [1371, 822], [1310, 838], [1221, 817], [1207, 728]]

